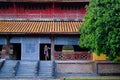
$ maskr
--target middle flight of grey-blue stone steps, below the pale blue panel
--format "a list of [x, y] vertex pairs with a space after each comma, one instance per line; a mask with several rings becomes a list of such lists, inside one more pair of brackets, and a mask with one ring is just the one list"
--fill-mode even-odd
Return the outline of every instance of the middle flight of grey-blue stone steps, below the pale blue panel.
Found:
[[36, 77], [37, 61], [20, 61], [16, 77]]

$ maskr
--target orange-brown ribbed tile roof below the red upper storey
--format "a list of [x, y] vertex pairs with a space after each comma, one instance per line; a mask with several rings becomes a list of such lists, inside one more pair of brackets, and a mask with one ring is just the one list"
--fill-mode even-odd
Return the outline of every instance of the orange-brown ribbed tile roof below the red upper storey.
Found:
[[1, 21], [0, 34], [78, 34], [82, 22]]

